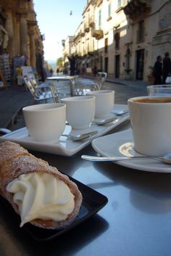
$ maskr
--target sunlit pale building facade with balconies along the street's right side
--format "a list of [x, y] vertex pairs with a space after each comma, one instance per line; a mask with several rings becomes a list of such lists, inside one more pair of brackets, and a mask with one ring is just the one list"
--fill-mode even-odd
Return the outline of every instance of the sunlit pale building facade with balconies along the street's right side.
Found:
[[158, 55], [171, 54], [171, 1], [88, 0], [71, 51], [78, 70], [147, 80]]

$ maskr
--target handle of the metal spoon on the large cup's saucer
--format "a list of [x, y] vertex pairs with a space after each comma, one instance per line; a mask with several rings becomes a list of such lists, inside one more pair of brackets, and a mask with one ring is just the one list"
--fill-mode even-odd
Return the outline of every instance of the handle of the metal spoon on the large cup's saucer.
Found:
[[93, 157], [90, 155], [83, 154], [81, 156], [83, 160], [93, 161], [93, 162], [103, 162], [103, 161], [122, 161], [122, 160], [133, 160], [133, 159], [159, 159], [161, 157], [148, 157], [148, 156], [133, 156], [133, 157]]

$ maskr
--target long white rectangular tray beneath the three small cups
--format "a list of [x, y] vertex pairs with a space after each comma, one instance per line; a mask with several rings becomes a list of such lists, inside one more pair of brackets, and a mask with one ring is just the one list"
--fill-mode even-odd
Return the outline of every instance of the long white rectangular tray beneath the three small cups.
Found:
[[[126, 109], [128, 109], [127, 105], [114, 104], [113, 111], [126, 110]], [[110, 116], [114, 116], [114, 114], [111, 113]], [[32, 137], [28, 136], [27, 128], [21, 128], [17, 131], [13, 131], [12, 133], [8, 133], [7, 135], [1, 136], [0, 141], [5, 141], [5, 140], [14, 141], [24, 146], [26, 149], [35, 150], [39, 152], [46, 152], [51, 154], [59, 154], [59, 155], [70, 157], [73, 154], [79, 152], [88, 144], [91, 144], [91, 141], [93, 141], [93, 139], [99, 136], [103, 136], [109, 131], [112, 131], [112, 129], [117, 128], [118, 125], [124, 123], [128, 119], [129, 119], [129, 113], [122, 116], [118, 116], [116, 120], [114, 120], [111, 123], [107, 123], [105, 125], [96, 125], [92, 123], [89, 128], [86, 128], [83, 130], [72, 130], [70, 125], [65, 126], [65, 129], [64, 129], [65, 134], [78, 135], [79, 133], [88, 133], [90, 131], [98, 131], [98, 133], [95, 136], [92, 136], [91, 138], [88, 138], [88, 139], [84, 139], [82, 141], [72, 141], [70, 139], [67, 139], [64, 136], [61, 136], [59, 139], [59, 142], [57, 143], [39, 142], [39, 141], [35, 141]]]

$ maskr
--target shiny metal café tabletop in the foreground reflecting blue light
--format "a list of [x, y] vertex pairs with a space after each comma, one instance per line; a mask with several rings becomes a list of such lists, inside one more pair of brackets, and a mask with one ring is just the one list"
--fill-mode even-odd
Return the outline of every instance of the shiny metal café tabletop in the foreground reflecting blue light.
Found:
[[[112, 132], [130, 127], [125, 123]], [[36, 241], [19, 228], [1, 199], [0, 255], [170, 256], [171, 173], [133, 170], [113, 162], [88, 162], [91, 145], [72, 157], [31, 152], [62, 173], [107, 197], [99, 212], [49, 241]]]

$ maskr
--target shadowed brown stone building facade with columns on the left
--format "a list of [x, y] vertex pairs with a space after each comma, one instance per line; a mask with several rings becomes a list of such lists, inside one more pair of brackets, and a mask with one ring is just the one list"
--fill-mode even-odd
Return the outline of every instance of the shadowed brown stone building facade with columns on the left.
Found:
[[11, 73], [20, 65], [38, 67], [40, 55], [43, 58], [42, 41], [33, 0], [0, 1], [0, 57], [1, 63], [9, 58]]

